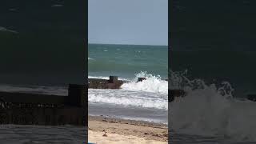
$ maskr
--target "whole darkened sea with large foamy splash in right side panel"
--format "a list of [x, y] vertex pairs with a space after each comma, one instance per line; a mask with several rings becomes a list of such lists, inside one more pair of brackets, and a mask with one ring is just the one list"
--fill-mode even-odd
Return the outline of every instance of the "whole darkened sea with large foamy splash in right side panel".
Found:
[[170, 2], [170, 143], [256, 143], [255, 1]]

